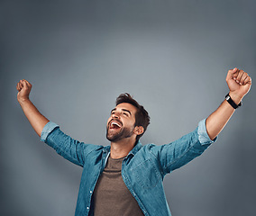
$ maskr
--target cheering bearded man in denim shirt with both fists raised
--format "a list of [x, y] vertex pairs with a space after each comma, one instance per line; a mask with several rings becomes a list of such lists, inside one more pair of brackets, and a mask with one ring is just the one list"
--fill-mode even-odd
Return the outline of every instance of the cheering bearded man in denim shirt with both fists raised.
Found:
[[229, 94], [193, 132], [167, 145], [142, 146], [140, 138], [150, 123], [148, 112], [130, 94], [121, 94], [106, 124], [107, 147], [71, 139], [46, 119], [29, 100], [32, 85], [17, 84], [18, 102], [33, 129], [59, 155], [83, 166], [76, 215], [170, 215], [163, 177], [199, 156], [241, 105], [251, 77], [234, 68], [226, 76]]

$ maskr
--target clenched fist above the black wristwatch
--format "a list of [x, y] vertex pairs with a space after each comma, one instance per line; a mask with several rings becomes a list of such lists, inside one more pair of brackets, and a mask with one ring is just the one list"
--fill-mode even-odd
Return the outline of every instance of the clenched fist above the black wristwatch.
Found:
[[243, 70], [233, 68], [229, 70], [226, 76], [226, 83], [229, 87], [231, 97], [236, 97], [242, 100], [242, 97], [247, 94], [251, 88], [251, 77]]

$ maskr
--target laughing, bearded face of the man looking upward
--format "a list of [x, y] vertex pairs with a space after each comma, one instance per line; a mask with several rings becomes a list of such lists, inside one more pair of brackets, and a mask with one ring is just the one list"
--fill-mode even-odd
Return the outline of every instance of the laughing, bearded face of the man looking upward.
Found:
[[118, 141], [133, 136], [136, 112], [136, 107], [130, 103], [115, 106], [106, 124], [106, 139]]

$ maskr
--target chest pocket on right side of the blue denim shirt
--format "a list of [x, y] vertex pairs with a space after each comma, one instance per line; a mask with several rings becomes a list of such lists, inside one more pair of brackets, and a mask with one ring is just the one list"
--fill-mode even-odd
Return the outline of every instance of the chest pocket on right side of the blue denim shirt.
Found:
[[136, 185], [143, 189], [152, 189], [160, 182], [160, 171], [157, 169], [151, 159], [142, 161], [141, 164], [131, 169], [135, 177]]

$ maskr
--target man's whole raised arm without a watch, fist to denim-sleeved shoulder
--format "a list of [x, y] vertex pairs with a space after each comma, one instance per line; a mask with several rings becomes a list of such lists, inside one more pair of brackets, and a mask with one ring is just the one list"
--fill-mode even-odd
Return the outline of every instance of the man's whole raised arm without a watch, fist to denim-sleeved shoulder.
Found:
[[59, 155], [78, 166], [83, 166], [85, 157], [90, 152], [97, 148], [102, 148], [101, 146], [85, 144], [84, 142], [72, 139], [69, 135], [59, 130], [57, 124], [45, 118], [29, 99], [32, 85], [28, 81], [21, 80], [16, 88], [19, 91], [17, 94], [18, 102], [21, 104], [23, 112], [30, 121], [32, 128], [41, 137], [41, 141], [54, 148]]

